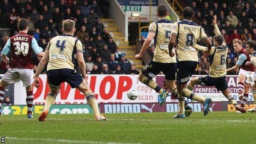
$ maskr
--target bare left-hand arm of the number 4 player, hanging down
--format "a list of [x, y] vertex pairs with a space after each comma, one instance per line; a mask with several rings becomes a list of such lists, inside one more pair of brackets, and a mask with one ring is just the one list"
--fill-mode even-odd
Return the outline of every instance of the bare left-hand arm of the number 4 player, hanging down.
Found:
[[46, 65], [46, 63], [49, 60], [49, 50], [46, 50], [45, 55], [43, 55], [43, 58], [41, 59], [41, 61], [39, 62], [38, 66], [37, 66], [37, 72], [34, 76], [34, 85], [35, 87], [40, 87], [40, 82], [39, 82], [39, 75], [40, 73], [43, 71], [44, 66]]

